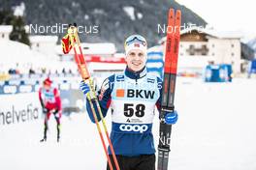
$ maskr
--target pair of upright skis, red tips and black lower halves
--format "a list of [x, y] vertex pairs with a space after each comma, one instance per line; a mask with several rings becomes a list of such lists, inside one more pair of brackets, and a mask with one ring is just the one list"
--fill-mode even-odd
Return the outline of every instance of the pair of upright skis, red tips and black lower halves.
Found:
[[160, 112], [157, 170], [167, 170], [170, 153], [172, 125], [165, 123], [166, 112], [175, 111], [176, 67], [179, 45], [181, 12], [170, 9], [165, 49], [164, 78]]

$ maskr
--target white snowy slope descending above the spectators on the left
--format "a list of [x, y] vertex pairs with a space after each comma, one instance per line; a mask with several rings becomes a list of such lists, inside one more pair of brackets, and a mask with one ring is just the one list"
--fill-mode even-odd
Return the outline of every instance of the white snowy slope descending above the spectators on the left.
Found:
[[8, 71], [19, 65], [21, 72], [28, 71], [29, 67], [47, 68], [51, 71], [61, 71], [63, 68], [77, 71], [75, 62], [59, 62], [52, 55], [46, 55], [32, 50], [28, 45], [21, 42], [0, 40], [0, 71]]

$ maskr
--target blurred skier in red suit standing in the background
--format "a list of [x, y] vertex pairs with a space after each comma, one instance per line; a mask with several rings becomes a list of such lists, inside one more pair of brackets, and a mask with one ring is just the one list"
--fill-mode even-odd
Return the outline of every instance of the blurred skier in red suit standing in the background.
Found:
[[39, 90], [39, 99], [43, 108], [43, 114], [45, 116], [44, 122], [44, 138], [41, 142], [47, 141], [48, 133], [48, 120], [51, 114], [53, 114], [57, 123], [57, 142], [60, 140], [60, 118], [61, 118], [61, 99], [57, 88], [52, 87], [52, 81], [49, 79], [44, 80], [43, 87]]

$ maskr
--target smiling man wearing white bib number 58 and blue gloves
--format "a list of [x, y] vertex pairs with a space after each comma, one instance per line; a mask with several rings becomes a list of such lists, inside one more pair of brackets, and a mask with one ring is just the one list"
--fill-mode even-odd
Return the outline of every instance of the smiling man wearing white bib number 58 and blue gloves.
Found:
[[[155, 106], [160, 109], [162, 80], [146, 71], [147, 44], [142, 36], [130, 36], [124, 47], [127, 67], [103, 82], [98, 99], [104, 116], [109, 107], [112, 108], [111, 140], [120, 169], [155, 170], [151, 129]], [[91, 93], [84, 81], [81, 81], [80, 89], [84, 95]], [[95, 123], [88, 102], [86, 108], [91, 121]], [[166, 115], [167, 123], [176, 124], [176, 111]], [[97, 117], [100, 120], [100, 116]], [[112, 159], [110, 149], [109, 154]]]

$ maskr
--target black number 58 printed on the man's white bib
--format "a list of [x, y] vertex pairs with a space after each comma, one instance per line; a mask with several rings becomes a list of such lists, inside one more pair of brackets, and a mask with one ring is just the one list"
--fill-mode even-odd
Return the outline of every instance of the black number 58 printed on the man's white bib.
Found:
[[141, 118], [144, 117], [144, 108], [144, 104], [134, 105], [133, 103], [125, 103], [123, 113], [126, 117], [132, 117], [135, 114]]

